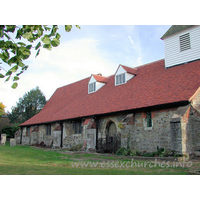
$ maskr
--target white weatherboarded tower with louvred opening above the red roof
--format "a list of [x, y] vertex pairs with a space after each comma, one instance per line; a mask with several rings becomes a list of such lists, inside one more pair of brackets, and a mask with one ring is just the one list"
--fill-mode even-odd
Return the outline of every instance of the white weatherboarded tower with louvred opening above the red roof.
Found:
[[200, 59], [200, 26], [173, 25], [161, 39], [166, 68]]

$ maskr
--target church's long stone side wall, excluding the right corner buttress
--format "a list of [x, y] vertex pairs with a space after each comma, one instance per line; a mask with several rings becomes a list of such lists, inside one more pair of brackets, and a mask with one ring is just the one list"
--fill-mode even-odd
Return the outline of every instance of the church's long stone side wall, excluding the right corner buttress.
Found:
[[[109, 115], [98, 119], [98, 141], [106, 143], [106, 131], [110, 122], [116, 125], [117, 135], [121, 137], [121, 147], [130, 147], [133, 150], [152, 152], [158, 148], [171, 149], [170, 120], [177, 108], [152, 111], [153, 127], [146, 126], [146, 112], [124, 113], [121, 115]], [[27, 128], [23, 128], [22, 144], [36, 144], [44, 142], [49, 145], [53, 141], [53, 147], [59, 147], [61, 143], [61, 131], [57, 130], [58, 123], [51, 124], [51, 135], [46, 135], [46, 125], [30, 128], [30, 136]], [[84, 144], [86, 149], [96, 147], [96, 124], [94, 119], [88, 124], [82, 124], [82, 133], [74, 134], [72, 121], [63, 122], [63, 148], [70, 148], [77, 144]]]

